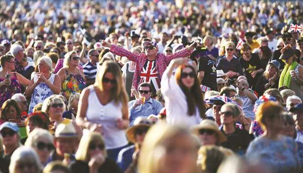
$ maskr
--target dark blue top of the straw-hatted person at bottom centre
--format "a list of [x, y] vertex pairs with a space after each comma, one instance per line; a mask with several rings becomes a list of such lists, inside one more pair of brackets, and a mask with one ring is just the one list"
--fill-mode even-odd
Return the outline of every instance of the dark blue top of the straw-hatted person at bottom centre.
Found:
[[132, 154], [135, 152], [135, 145], [122, 149], [117, 158], [117, 164], [124, 173], [132, 162]]

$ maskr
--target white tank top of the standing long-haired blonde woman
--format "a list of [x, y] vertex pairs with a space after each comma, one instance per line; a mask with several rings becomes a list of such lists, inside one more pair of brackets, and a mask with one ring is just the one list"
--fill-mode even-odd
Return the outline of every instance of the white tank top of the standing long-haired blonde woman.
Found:
[[122, 104], [115, 104], [110, 101], [106, 105], [102, 105], [94, 90], [89, 87], [87, 120], [102, 125], [102, 135], [106, 145], [106, 149], [115, 149], [128, 144], [125, 131], [117, 127], [117, 119], [122, 119]]

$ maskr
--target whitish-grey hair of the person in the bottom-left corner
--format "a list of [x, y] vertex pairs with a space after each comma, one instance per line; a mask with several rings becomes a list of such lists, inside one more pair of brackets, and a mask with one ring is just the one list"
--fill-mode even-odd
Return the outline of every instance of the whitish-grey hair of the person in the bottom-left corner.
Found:
[[16, 173], [18, 165], [22, 162], [32, 162], [37, 169], [37, 173], [40, 173], [42, 170], [42, 165], [40, 163], [39, 156], [32, 148], [22, 146], [14, 151], [11, 156], [9, 172]]

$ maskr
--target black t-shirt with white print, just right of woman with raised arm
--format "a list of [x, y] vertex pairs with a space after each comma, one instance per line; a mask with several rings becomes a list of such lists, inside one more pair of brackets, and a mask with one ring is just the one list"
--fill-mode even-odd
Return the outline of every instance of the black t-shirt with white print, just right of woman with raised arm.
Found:
[[202, 85], [210, 87], [212, 90], [217, 91], [216, 86], [216, 62], [211, 58], [204, 56], [199, 58], [198, 72], [204, 72]]

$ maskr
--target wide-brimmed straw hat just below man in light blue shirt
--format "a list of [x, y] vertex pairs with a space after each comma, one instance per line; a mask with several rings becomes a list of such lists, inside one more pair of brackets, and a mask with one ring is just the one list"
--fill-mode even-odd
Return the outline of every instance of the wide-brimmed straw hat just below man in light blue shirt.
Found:
[[152, 121], [147, 117], [143, 117], [143, 116], [137, 117], [133, 122], [133, 126], [126, 131], [126, 135], [129, 141], [132, 143], [136, 142], [135, 140], [136, 129], [138, 129], [139, 127], [151, 127], [151, 125], [152, 125]]

